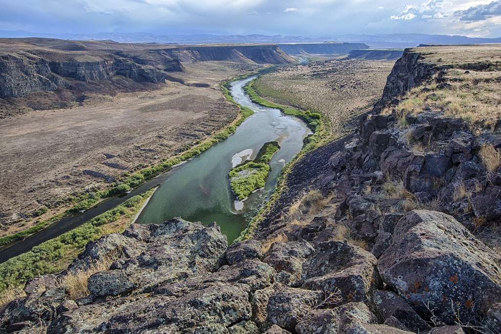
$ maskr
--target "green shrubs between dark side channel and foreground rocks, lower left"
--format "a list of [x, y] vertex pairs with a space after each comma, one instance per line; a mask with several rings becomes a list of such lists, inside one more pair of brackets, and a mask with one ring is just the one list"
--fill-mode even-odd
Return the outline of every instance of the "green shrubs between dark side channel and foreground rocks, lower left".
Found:
[[[122, 205], [96, 216], [89, 222], [1, 263], [0, 293], [8, 288], [21, 286], [35, 276], [62, 270], [90, 241], [105, 234], [125, 230], [154, 190], [131, 197]], [[119, 226], [108, 225], [119, 219], [124, 219], [124, 223]]]

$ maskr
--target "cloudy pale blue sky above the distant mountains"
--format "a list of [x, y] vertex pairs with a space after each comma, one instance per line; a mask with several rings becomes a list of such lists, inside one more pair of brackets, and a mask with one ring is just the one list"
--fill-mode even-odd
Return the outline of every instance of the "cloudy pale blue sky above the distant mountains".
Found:
[[501, 0], [0, 0], [0, 30], [501, 37]]

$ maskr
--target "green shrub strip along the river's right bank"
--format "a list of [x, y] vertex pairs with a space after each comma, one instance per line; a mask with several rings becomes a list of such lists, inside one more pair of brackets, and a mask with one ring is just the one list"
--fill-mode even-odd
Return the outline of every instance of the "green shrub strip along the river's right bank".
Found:
[[325, 121], [325, 117], [323, 117], [320, 113], [312, 113], [310, 111], [301, 111], [292, 107], [279, 105], [262, 98], [258, 92], [254, 88], [254, 82], [256, 80], [250, 82], [247, 86], [244, 87], [245, 92], [249, 95], [250, 99], [258, 103], [262, 106], [269, 108], [280, 109], [284, 114], [296, 116], [303, 119], [308, 127], [314, 132], [313, 135], [309, 136], [305, 140], [305, 145], [299, 154], [292, 159], [282, 170], [278, 180], [277, 186], [275, 187], [275, 191], [270, 197], [270, 200], [266, 202], [263, 207], [259, 210], [258, 214], [248, 223], [247, 227], [240, 233], [237, 239], [233, 242], [239, 242], [243, 240], [248, 240], [254, 237], [256, 233], [256, 229], [258, 228], [259, 223], [266, 217], [266, 215], [270, 212], [273, 205], [277, 202], [280, 196], [285, 193], [287, 188], [287, 176], [291, 173], [294, 165], [304, 158], [304, 156], [315, 150], [330, 141], [330, 124]]

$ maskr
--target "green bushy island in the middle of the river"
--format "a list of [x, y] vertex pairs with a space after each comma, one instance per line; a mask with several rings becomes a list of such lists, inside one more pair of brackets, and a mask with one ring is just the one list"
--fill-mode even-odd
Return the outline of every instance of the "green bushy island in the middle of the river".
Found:
[[265, 143], [254, 161], [249, 161], [229, 171], [231, 190], [238, 200], [247, 198], [253, 191], [265, 186], [271, 171], [270, 161], [279, 149], [280, 145], [277, 142]]

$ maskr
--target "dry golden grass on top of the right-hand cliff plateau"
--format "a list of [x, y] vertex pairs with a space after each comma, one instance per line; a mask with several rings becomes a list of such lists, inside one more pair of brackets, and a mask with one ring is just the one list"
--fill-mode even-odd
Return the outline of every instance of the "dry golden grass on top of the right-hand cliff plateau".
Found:
[[[431, 82], [414, 87], [396, 109], [402, 115], [421, 113], [425, 109], [444, 112], [445, 116], [464, 119], [472, 128], [499, 130], [495, 126], [501, 118], [498, 79], [501, 67], [493, 61], [499, 59], [499, 54], [494, 51], [496, 48], [499, 46], [415, 49], [424, 57], [424, 62], [436, 63], [441, 59], [440, 65], [453, 66], [442, 70], [442, 79], [450, 86], [438, 88], [436, 83]], [[429, 91], [423, 92], [423, 88]], [[383, 114], [390, 112], [391, 108], [385, 108]], [[403, 117], [397, 119], [396, 124], [400, 128], [407, 127]]]

